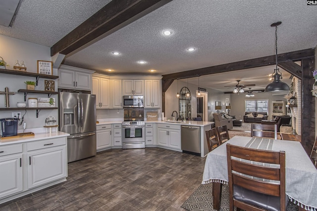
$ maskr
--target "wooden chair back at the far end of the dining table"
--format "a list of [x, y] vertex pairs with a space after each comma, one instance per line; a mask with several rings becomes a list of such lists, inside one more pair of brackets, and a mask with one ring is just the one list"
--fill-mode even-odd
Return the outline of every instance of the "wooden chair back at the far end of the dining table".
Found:
[[251, 137], [253, 136], [277, 139], [277, 125], [251, 124]]

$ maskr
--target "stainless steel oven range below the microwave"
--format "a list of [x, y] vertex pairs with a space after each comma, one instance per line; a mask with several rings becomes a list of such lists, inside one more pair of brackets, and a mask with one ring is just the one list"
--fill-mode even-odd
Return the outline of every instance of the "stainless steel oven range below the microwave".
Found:
[[143, 121], [122, 123], [122, 149], [145, 148], [145, 124]]

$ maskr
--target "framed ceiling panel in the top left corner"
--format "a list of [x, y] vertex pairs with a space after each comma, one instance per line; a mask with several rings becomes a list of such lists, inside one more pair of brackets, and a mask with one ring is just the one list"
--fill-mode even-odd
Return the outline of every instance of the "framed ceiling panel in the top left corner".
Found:
[[23, 0], [1, 0], [0, 25], [11, 27]]

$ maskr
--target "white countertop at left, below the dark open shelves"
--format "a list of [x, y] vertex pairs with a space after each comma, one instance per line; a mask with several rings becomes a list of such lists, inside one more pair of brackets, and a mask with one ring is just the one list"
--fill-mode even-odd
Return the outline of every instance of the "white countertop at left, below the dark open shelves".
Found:
[[[50, 138], [58, 138], [58, 137], [65, 137], [69, 136], [68, 133], [66, 132], [52, 132], [52, 133], [35, 133], [34, 136], [32, 137], [19, 137], [19, 138], [12, 138], [12, 139], [7, 139], [7, 140], [1, 140], [0, 139], [0, 146], [7, 145], [7, 144], [17, 144], [17, 143], [23, 143], [27, 141], [38, 141], [38, 140], [45, 140], [45, 139], [50, 139]], [[3, 142], [2, 142], [3, 141]]]

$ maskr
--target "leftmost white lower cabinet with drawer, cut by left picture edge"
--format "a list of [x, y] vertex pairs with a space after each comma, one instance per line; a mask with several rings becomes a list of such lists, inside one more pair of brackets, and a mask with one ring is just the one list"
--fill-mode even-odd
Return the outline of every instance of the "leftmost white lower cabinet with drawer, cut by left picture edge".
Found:
[[22, 144], [0, 147], [0, 198], [23, 190]]

